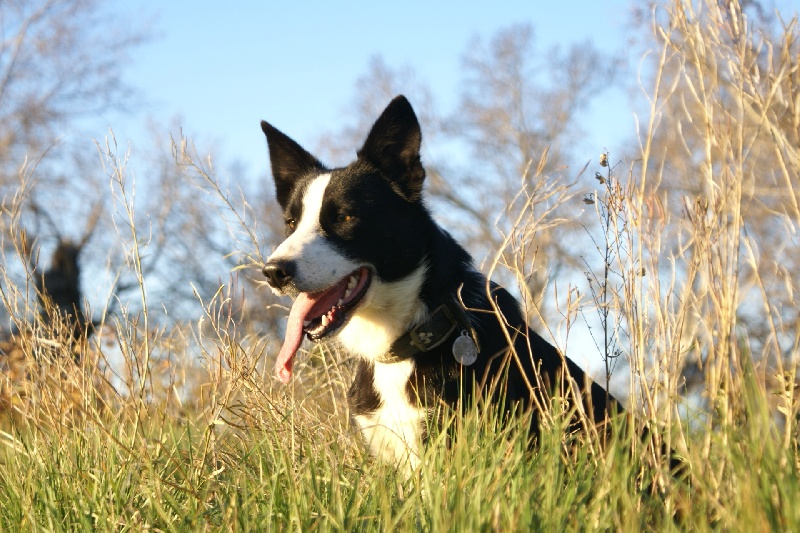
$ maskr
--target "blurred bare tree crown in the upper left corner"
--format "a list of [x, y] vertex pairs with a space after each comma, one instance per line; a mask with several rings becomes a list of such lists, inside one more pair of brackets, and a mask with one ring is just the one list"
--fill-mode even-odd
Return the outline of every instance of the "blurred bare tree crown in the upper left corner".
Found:
[[[24, 227], [55, 250], [87, 221], [107, 221], [98, 207], [107, 184], [91, 141], [64, 139], [80, 120], [133, 102], [122, 74], [145, 33], [96, 0], [4, 0], [0, 32], [0, 231], [4, 246]], [[20, 191], [12, 216], [6, 203]], [[96, 255], [83, 252], [82, 261]]]

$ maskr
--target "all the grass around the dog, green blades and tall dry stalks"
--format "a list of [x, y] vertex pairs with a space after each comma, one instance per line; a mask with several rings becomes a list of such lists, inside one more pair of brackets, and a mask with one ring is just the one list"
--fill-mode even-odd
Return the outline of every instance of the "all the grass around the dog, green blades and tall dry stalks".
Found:
[[[800, 530], [800, 155], [796, 127], [786, 127], [800, 116], [797, 23], [770, 38], [735, 3], [654, 13], [659, 48], [648, 56], [651, 109], [636, 161], [625, 172], [605, 155], [590, 198], [599, 231], [587, 226], [599, 267], [583, 258], [594, 285], [581, 289], [588, 299], [558, 287], [564, 321], [546, 332], [566, 339], [576, 317], [597, 311], [598, 352], [609, 374], [628, 369], [637, 431], [617, 421], [602, 445], [566, 434], [552, 409], [529, 450], [524, 420], [500, 425], [473, 408], [446, 416], [419, 472], [399, 475], [369, 457], [350, 425], [351, 361], [318, 349], [278, 385], [277, 340], [247, 330], [234, 284], [199, 301], [197, 323], [154, 325], [135, 188], [107, 146], [143, 310], [122, 306], [105, 334], [75, 344], [63, 324], [31, 319], [33, 274], [20, 281], [2, 269], [3, 305], [24, 333], [0, 357], [0, 531]], [[175, 156], [222, 200], [257, 264], [252, 218], [188, 143]], [[557, 224], [553, 199], [569, 195], [535, 174], [509, 206], [513, 228], [487, 270], [519, 280], [541, 318], [525, 279], [537, 231]], [[31, 176], [21, 178], [3, 204], [6, 266], [30, 262], [18, 214]], [[769, 248], [775, 241], [783, 245]], [[688, 480], [642, 445], [646, 422], [663, 428]]]

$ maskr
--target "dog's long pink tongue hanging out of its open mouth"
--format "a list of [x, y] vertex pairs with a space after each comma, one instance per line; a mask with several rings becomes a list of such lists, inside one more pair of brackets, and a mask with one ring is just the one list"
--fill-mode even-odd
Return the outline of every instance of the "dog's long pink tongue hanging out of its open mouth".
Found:
[[286, 336], [283, 339], [283, 346], [275, 362], [275, 374], [284, 383], [289, 383], [292, 378], [292, 363], [294, 355], [303, 342], [303, 322], [309, 320], [308, 317], [317, 318], [327, 313], [328, 310], [339, 301], [344, 295], [347, 280], [339, 282], [334, 287], [325, 292], [310, 294], [301, 292], [289, 311], [289, 323], [286, 324]]

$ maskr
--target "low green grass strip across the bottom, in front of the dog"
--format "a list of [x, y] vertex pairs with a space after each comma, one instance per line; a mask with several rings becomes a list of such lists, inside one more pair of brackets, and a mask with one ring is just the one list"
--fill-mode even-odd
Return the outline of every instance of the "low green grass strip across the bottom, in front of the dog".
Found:
[[410, 479], [310, 412], [246, 428], [150, 412], [136, 435], [111, 413], [14, 426], [0, 439], [0, 530], [797, 530], [796, 447], [766, 411], [749, 414], [714, 431], [707, 459], [705, 433], [690, 437], [691, 482], [661, 476], [656, 494], [643, 480], [664, 469], [630, 451], [638, 440], [592, 453], [555, 427], [531, 451], [524, 421], [476, 411], [449, 446], [432, 436]]

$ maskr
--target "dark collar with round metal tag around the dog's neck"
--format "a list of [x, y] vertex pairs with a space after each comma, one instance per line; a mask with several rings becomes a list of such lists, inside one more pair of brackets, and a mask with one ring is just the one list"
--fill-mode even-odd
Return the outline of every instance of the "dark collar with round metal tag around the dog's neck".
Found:
[[[472, 344], [469, 350], [474, 350], [477, 354], [480, 351], [478, 334], [472, 327], [464, 307], [455, 301], [447, 302], [437, 307], [426, 322], [414, 326], [394, 341], [389, 351], [375, 360], [379, 363], [397, 363], [438, 348], [459, 333], [469, 339], [467, 342]], [[454, 345], [459, 340], [455, 339]], [[460, 352], [461, 350], [454, 346], [453, 355], [456, 360], [467, 365], [474, 362], [474, 356], [471, 359], [467, 358], [468, 362], [461, 360]]]

